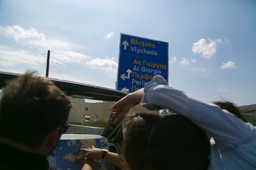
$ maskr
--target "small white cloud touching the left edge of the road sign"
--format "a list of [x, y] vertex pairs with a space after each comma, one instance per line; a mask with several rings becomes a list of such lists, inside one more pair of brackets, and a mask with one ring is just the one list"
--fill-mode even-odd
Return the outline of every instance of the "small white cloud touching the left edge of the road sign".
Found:
[[93, 59], [86, 64], [92, 69], [102, 69], [106, 72], [116, 73], [117, 71], [117, 63], [113, 59]]

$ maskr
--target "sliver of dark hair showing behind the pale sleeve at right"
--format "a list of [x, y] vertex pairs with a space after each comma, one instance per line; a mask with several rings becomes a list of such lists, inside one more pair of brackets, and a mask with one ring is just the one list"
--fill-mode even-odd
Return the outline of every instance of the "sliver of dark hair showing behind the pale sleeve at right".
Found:
[[239, 109], [236, 106], [234, 106], [233, 103], [230, 103], [228, 101], [214, 101], [213, 103], [220, 106], [221, 109], [229, 111], [230, 113], [240, 118], [244, 122], [248, 122], [240, 113]]

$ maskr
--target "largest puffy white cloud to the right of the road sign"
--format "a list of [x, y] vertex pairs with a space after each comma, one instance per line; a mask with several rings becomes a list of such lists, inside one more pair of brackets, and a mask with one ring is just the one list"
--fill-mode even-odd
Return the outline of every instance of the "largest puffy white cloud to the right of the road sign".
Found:
[[210, 59], [216, 53], [217, 43], [222, 43], [221, 39], [199, 39], [196, 43], [193, 43], [192, 52], [199, 53], [205, 59]]

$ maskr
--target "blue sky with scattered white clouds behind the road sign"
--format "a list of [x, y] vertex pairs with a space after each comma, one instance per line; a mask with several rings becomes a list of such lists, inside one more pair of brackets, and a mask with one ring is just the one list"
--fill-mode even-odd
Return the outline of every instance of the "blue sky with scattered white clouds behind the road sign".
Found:
[[[115, 89], [120, 33], [169, 43], [169, 85], [256, 103], [256, 1], [0, 1], [0, 71]], [[53, 62], [53, 63], [52, 63]]]

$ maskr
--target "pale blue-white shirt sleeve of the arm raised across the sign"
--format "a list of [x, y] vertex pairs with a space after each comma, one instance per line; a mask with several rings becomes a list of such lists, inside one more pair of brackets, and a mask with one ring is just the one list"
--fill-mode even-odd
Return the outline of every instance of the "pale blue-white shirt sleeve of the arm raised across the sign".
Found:
[[180, 90], [159, 85], [154, 80], [145, 86], [141, 104], [148, 109], [167, 108], [183, 115], [214, 137], [216, 143], [239, 143], [250, 138], [255, 131], [252, 124], [227, 110], [193, 99]]

